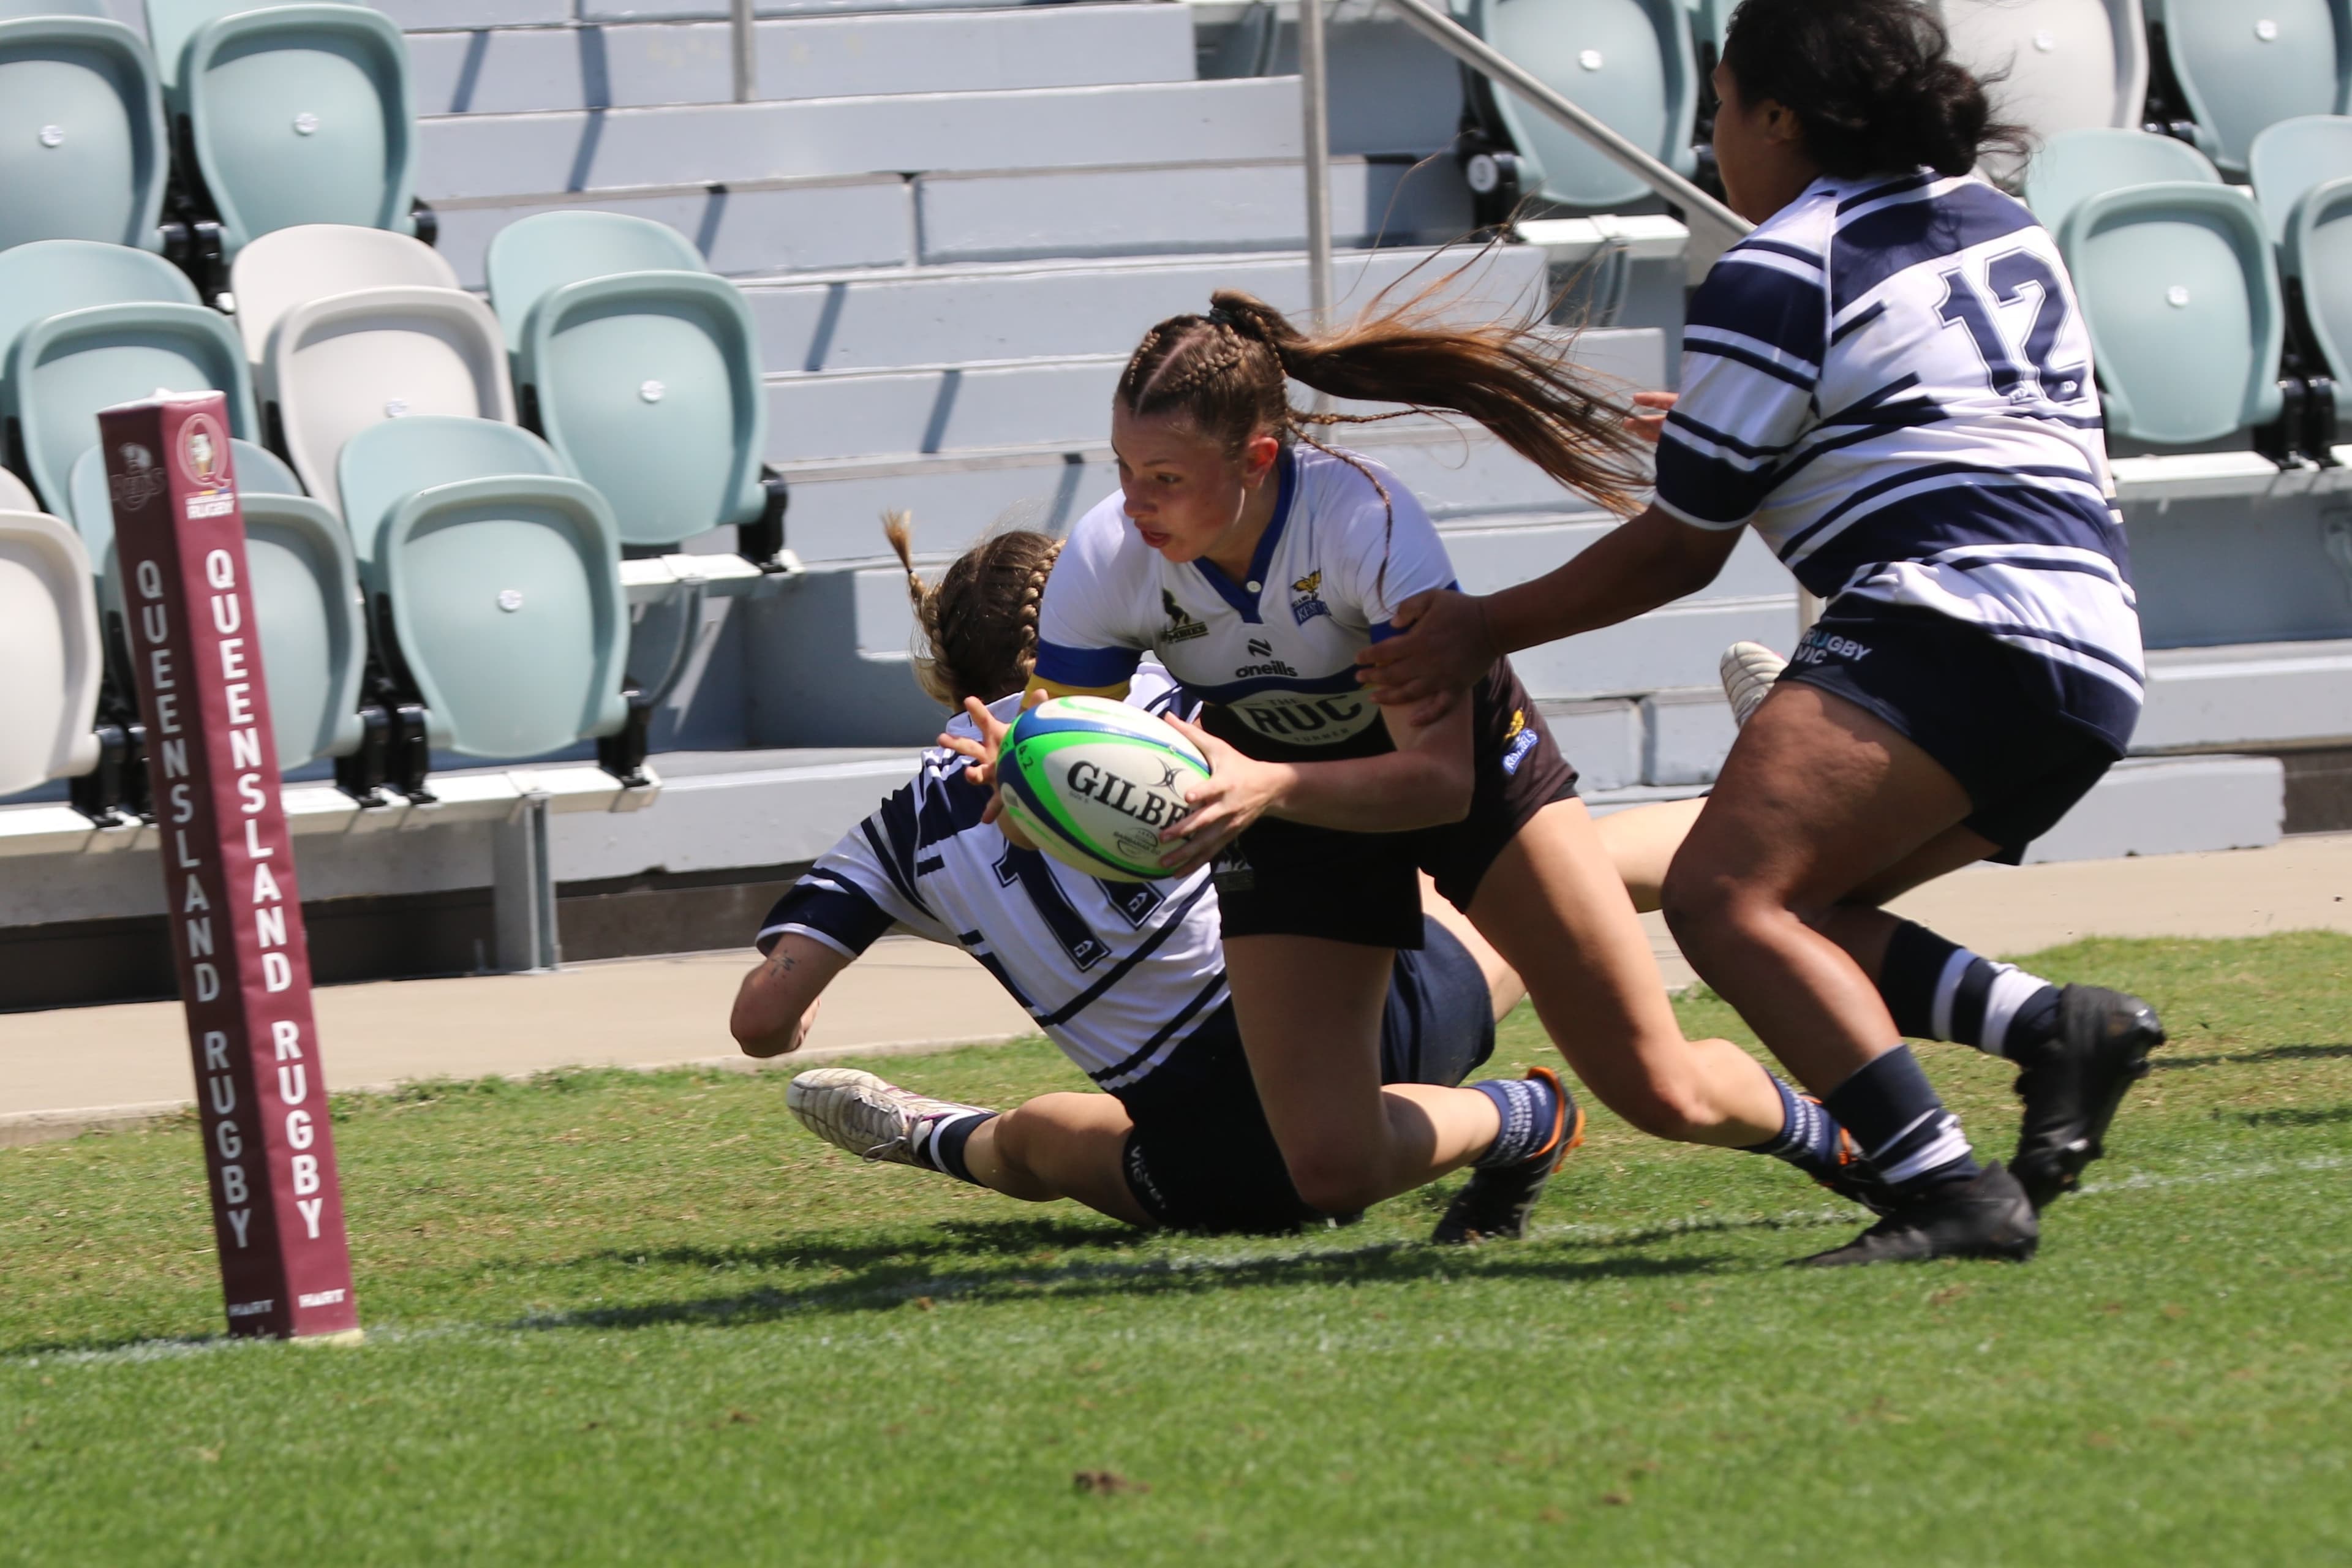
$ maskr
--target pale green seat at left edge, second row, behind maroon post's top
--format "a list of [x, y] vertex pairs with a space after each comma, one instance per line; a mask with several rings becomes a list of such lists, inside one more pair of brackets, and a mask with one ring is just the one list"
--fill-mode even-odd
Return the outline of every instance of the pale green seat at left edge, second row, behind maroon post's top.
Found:
[[[148, 296], [120, 299], [139, 289]], [[66, 510], [73, 463], [96, 442], [99, 409], [118, 402], [209, 388], [228, 397], [230, 435], [259, 435], [235, 327], [195, 303], [160, 259], [75, 240], [26, 244], [0, 252], [0, 339], [9, 317], [24, 322], [7, 348], [0, 414], [14, 468], [54, 510]]]

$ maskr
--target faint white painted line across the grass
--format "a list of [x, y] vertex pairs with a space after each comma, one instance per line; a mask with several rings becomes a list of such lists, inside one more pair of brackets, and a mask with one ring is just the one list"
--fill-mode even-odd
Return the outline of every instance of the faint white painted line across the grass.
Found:
[[[2239, 1166], [2220, 1166], [2211, 1171], [2180, 1171], [2173, 1175], [2140, 1173], [2126, 1175], [2112, 1182], [2089, 1182], [2074, 1199], [2105, 1197], [2114, 1192], [2152, 1192], [2159, 1187], [2220, 1187], [2230, 1182], [2253, 1182], [2274, 1175], [2312, 1175], [2319, 1171], [2343, 1171], [2352, 1166], [2352, 1157], [2345, 1154], [2312, 1154], [2310, 1159], [2272, 1159], [2253, 1161]], [[1684, 1215], [1679, 1220], [1651, 1220], [1646, 1225], [1538, 1225], [1536, 1234], [1559, 1241], [1576, 1241], [1583, 1246], [1623, 1246], [1628, 1241], [1649, 1241], [1658, 1237], [1677, 1234], [1705, 1234], [1717, 1229], [1783, 1229], [1799, 1225], [1837, 1225], [1851, 1220], [1853, 1213], [1846, 1208], [1785, 1208], [1773, 1215]], [[1150, 1258], [1138, 1262], [1117, 1265], [1073, 1265], [1068, 1269], [1054, 1269], [1049, 1281], [1023, 1274], [997, 1274], [976, 1281], [953, 1281], [953, 1279], [903, 1279], [891, 1286], [877, 1286], [870, 1293], [856, 1293], [866, 1300], [891, 1300], [891, 1298], [955, 1298], [971, 1295], [978, 1291], [1002, 1288], [1002, 1286], [1035, 1286], [1035, 1284], [1084, 1284], [1087, 1279], [1105, 1276], [1185, 1276], [1185, 1274], [1232, 1274], [1242, 1269], [1263, 1269], [1277, 1265], [1298, 1262], [1348, 1262], [1357, 1258], [1378, 1258], [1385, 1253], [1399, 1253], [1418, 1248], [1416, 1241], [1378, 1241], [1371, 1246], [1294, 1246], [1270, 1253], [1244, 1253], [1244, 1255], [1169, 1255]], [[790, 1295], [779, 1291], [779, 1295]], [[642, 1312], [659, 1312], [659, 1302], [647, 1302]], [[508, 1324], [435, 1324], [426, 1328], [402, 1328], [395, 1324], [383, 1324], [367, 1331], [365, 1345], [395, 1345], [414, 1340], [442, 1340], [463, 1335], [506, 1335], [517, 1328], [597, 1328], [626, 1324], [628, 1316], [640, 1312], [640, 1307], [590, 1307], [583, 1312], [548, 1312], [548, 1314], [522, 1314]], [[28, 1356], [12, 1356], [0, 1361], [9, 1368], [38, 1368], [38, 1366], [113, 1366], [129, 1361], [176, 1361], [181, 1356], [209, 1356], [233, 1349], [266, 1349], [280, 1345], [280, 1340], [233, 1340], [228, 1335], [212, 1338], [179, 1338], [179, 1340], [139, 1340], [136, 1345], [115, 1345], [108, 1349], [49, 1349]], [[343, 1347], [320, 1347], [320, 1349], [343, 1349]]]

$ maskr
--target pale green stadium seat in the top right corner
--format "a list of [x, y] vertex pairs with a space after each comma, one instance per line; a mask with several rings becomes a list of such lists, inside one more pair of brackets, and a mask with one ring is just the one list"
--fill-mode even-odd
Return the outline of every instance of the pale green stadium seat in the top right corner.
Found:
[[2279, 120], [2352, 108], [2352, 0], [2161, 0], [2197, 146], [2232, 176]]

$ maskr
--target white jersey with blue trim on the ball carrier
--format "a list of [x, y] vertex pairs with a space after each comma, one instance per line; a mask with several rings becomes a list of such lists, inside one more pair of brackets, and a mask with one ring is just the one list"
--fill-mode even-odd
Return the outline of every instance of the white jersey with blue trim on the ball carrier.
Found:
[[1446, 548], [1378, 463], [1355, 468], [1312, 447], [1277, 461], [1275, 520], [1240, 583], [1214, 562], [1178, 567], [1145, 545], [1117, 494], [1080, 517], [1037, 611], [1037, 679], [1117, 691], [1150, 651], [1211, 719], [1223, 710], [1214, 729], [1242, 750], [1388, 750], [1355, 656], [1388, 635], [1399, 602], [1454, 585]]

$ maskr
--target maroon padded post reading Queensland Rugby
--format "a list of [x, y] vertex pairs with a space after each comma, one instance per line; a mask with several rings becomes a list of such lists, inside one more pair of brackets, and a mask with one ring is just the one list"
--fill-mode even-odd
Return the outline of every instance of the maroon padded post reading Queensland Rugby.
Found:
[[99, 414], [233, 1335], [358, 1335], [219, 393]]

